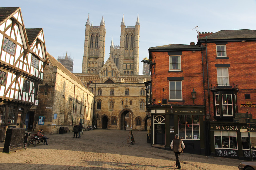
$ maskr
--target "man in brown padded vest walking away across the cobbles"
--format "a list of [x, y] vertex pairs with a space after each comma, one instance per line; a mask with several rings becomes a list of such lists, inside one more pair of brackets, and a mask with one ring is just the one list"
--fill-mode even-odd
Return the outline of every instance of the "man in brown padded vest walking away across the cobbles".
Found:
[[180, 166], [180, 162], [179, 162], [179, 155], [180, 155], [180, 153], [183, 152], [185, 145], [184, 145], [183, 141], [181, 139], [179, 139], [178, 134], [175, 135], [175, 139], [173, 139], [170, 146], [173, 149], [173, 152], [175, 153], [175, 156], [176, 156], [175, 165], [176, 165], [176, 167], [178, 166], [177, 169], [180, 169], [181, 166]]

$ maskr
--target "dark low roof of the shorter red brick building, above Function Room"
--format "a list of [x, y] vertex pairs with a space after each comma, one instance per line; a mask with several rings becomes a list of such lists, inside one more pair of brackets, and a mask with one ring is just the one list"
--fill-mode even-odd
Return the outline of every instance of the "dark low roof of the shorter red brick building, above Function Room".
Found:
[[199, 45], [186, 45], [186, 44], [168, 44], [157, 47], [150, 47], [148, 50], [174, 50], [174, 49], [201, 49]]

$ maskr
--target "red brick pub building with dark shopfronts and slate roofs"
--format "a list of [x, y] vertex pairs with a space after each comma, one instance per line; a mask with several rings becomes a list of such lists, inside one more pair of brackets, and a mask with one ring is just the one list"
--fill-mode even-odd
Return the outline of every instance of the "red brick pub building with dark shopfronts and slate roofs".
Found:
[[[247, 123], [233, 119], [256, 110], [255, 42], [255, 30], [222, 30], [199, 33], [196, 45], [149, 48], [152, 81], [145, 84], [152, 146], [169, 149], [179, 134], [184, 152], [250, 157], [248, 133], [240, 132]], [[254, 129], [250, 136], [256, 157]]]

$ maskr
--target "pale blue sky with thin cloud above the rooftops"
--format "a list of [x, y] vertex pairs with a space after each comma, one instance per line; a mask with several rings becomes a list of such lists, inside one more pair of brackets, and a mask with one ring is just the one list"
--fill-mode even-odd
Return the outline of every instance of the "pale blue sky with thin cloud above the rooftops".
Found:
[[[43, 28], [46, 50], [57, 59], [73, 58], [73, 73], [82, 72], [85, 24], [99, 26], [105, 21], [105, 58], [109, 58], [111, 38], [120, 45], [121, 21], [126, 27], [140, 22], [139, 61], [148, 58], [148, 48], [168, 44], [197, 43], [199, 32], [256, 30], [256, 0], [173, 1], [173, 0], [12, 0], [0, 7], [20, 7], [25, 28]], [[142, 74], [142, 62], [139, 62]]]

